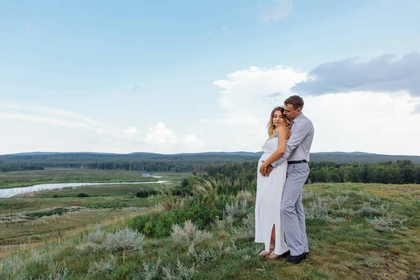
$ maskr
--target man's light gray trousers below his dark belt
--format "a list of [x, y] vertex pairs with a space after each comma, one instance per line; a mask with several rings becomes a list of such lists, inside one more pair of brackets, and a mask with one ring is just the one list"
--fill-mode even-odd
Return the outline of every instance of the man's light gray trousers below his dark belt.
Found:
[[281, 223], [290, 255], [309, 252], [302, 204], [303, 185], [308, 176], [309, 165], [307, 163], [292, 164], [287, 167], [286, 184], [280, 209]]

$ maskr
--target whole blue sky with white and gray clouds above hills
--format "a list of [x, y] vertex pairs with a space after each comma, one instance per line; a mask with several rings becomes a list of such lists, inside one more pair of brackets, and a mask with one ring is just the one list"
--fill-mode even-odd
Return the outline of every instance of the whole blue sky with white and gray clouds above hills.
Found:
[[261, 151], [293, 94], [311, 152], [420, 155], [417, 0], [0, 1], [0, 154]]

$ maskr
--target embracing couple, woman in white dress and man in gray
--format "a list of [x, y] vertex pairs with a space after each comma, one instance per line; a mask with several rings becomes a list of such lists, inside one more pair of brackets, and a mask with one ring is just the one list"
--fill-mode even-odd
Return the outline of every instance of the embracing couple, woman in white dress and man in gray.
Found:
[[309, 253], [302, 192], [309, 176], [314, 125], [303, 115], [303, 105], [303, 99], [293, 95], [284, 108], [272, 111], [269, 138], [258, 161], [255, 201], [255, 242], [265, 244], [258, 255], [286, 256], [286, 262], [293, 264]]

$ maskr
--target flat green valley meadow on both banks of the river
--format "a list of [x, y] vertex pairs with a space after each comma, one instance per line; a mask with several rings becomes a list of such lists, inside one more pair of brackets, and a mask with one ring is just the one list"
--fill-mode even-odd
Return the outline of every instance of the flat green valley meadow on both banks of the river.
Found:
[[[140, 172], [80, 169], [0, 173], [2, 188], [37, 183], [171, 181], [166, 184], [101, 185], [45, 190], [0, 199], [0, 245], [45, 241], [66, 231], [114, 218], [129, 218], [153, 206], [158, 196], [139, 198], [143, 190], [168, 188], [180, 184], [188, 174], [160, 174], [162, 179], [143, 177]], [[78, 197], [84, 193], [87, 197]]]

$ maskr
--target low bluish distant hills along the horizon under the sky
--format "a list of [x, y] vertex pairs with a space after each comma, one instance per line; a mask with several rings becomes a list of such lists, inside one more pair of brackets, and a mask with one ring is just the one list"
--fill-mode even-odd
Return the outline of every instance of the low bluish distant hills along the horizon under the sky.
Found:
[[[92, 153], [92, 152], [69, 152], [69, 153], [55, 153], [55, 152], [33, 152], [33, 153], [15, 153], [10, 155], [0, 155], [0, 163], [6, 162], [39, 162], [43, 160], [54, 161], [78, 161], [83, 160], [87, 162], [94, 161], [112, 161], [112, 160], [176, 160], [176, 161], [200, 161], [206, 162], [240, 162], [256, 160], [260, 157], [262, 152], [206, 152], [206, 153], [176, 153], [176, 154], [160, 154], [160, 153], [146, 153], [136, 152], [129, 154], [118, 153]], [[395, 162], [397, 160], [411, 160], [412, 162], [420, 163], [420, 156], [417, 155], [379, 155], [374, 153], [364, 152], [321, 152], [311, 153], [311, 161], [314, 162]]]

